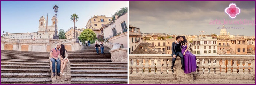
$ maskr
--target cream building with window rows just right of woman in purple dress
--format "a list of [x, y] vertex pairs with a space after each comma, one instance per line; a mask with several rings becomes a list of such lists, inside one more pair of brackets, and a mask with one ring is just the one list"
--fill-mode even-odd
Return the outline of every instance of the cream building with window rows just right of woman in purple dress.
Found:
[[217, 54], [217, 39], [193, 39], [191, 44], [193, 54]]

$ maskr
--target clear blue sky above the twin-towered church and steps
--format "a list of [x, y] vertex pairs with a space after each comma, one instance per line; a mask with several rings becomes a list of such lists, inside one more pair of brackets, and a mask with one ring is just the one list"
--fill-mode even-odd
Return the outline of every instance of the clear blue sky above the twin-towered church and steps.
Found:
[[128, 1], [1, 1], [1, 35], [9, 33], [37, 32], [39, 19], [48, 13], [48, 26], [55, 15], [53, 6], [59, 6], [57, 12], [58, 30], [74, 27], [70, 21], [73, 13], [79, 17], [77, 28], [85, 28], [87, 21], [94, 15], [112, 17], [120, 8], [128, 7]]

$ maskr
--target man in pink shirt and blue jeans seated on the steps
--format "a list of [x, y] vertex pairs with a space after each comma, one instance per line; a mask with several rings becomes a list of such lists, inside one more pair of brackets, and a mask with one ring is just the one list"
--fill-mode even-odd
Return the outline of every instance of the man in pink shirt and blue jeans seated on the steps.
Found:
[[50, 52], [50, 57], [52, 61], [52, 73], [53, 76], [55, 76], [55, 62], [57, 62], [57, 76], [60, 76], [60, 60], [58, 59], [58, 56], [60, 54], [60, 44], [57, 44], [56, 48], [52, 48]]

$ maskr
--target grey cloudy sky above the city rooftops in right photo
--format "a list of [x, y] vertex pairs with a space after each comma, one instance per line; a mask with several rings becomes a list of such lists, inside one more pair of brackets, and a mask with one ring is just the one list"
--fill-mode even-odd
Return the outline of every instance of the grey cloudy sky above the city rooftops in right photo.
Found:
[[[241, 9], [235, 19], [224, 12], [230, 3], [236, 3]], [[217, 27], [222, 25], [210, 24], [216, 19], [255, 22], [255, 1], [129, 1], [129, 24], [139, 27], [143, 33], [199, 35], [199, 31], [205, 31], [204, 34], [220, 35]], [[231, 35], [255, 36], [255, 25], [225, 27], [230, 27], [227, 32]]]

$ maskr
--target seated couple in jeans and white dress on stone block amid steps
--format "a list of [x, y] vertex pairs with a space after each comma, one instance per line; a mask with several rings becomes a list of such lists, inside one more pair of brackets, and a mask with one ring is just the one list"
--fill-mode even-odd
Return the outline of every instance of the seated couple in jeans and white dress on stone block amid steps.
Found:
[[[60, 48], [61, 46], [61, 48]], [[53, 76], [55, 76], [55, 62], [57, 62], [57, 76], [60, 76], [60, 73], [62, 75], [64, 75], [64, 68], [67, 64], [68, 60], [68, 54], [67, 54], [67, 50], [65, 49], [65, 45], [63, 44], [57, 44], [56, 48], [52, 48], [51, 52], [50, 52], [50, 57], [51, 57], [51, 61], [52, 61], [52, 73]], [[60, 67], [61, 67], [61, 71], [60, 71]]]

